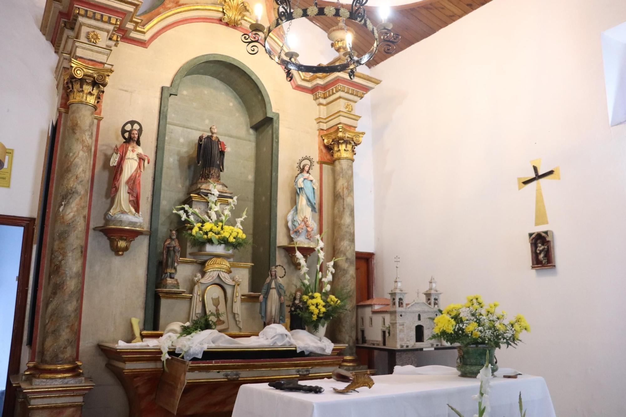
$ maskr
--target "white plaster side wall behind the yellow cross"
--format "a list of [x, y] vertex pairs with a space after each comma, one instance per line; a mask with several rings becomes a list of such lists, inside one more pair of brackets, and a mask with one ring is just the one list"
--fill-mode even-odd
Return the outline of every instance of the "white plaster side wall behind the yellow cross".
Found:
[[[623, 414], [626, 127], [609, 127], [600, 34], [622, 0], [496, 0], [379, 64], [372, 91], [376, 287], [397, 254], [444, 305], [481, 294], [532, 332], [501, 366], [544, 376], [559, 416]], [[550, 224], [534, 227], [541, 182]], [[557, 269], [531, 270], [528, 232], [555, 235]], [[522, 393], [523, 395], [523, 393]]]

